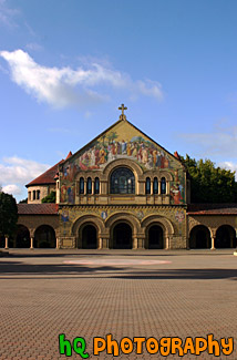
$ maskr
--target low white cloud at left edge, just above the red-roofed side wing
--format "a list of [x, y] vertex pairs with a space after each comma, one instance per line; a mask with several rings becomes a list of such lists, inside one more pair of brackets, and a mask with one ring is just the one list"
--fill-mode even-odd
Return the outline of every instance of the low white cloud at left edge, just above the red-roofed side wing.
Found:
[[50, 168], [48, 164], [40, 164], [18, 156], [4, 157], [0, 163], [0, 185], [2, 191], [18, 197], [18, 195], [25, 193], [24, 185], [48, 168]]

